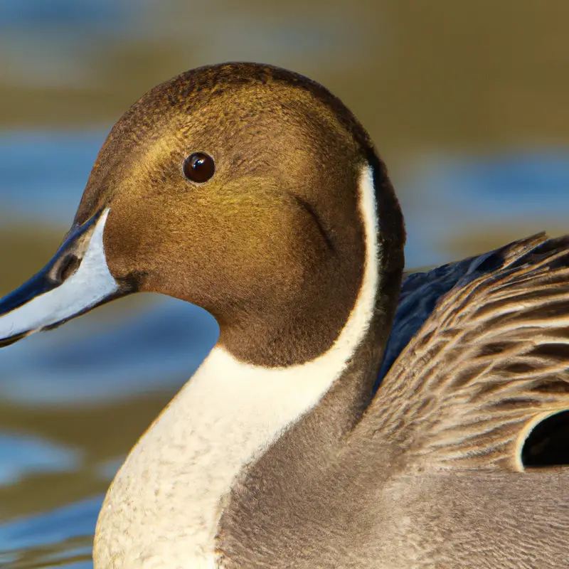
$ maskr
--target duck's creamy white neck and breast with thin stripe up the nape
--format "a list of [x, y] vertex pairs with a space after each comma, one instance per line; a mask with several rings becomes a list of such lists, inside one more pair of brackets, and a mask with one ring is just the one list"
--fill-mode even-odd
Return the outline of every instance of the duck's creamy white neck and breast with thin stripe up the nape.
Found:
[[213, 349], [117, 474], [97, 523], [97, 568], [217, 566], [217, 525], [235, 477], [319, 403], [368, 330], [380, 253], [372, 176], [364, 169], [360, 183], [363, 282], [339, 338], [289, 368], [250, 366]]

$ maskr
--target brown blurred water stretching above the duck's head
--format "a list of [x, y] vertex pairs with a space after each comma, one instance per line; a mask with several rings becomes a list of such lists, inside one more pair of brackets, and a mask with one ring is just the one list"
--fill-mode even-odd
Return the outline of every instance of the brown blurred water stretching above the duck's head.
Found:
[[[255, 55], [239, 43], [247, 43], [246, 31], [239, 32], [245, 22], [261, 44], [256, 58], [264, 60], [266, 30], [277, 21], [285, 31], [302, 23], [304, 33], [312, 31], [315, 38], [328, 33], [346, 42], [349, 55], [334, 53], [326, 65], [318, 46], [302, 55], [283, 46], [267, 63], [307, 73], [331, 88], [388, 154], [457, 143], [487, 148], [536, 136], [569, 142], [565, 0], [549, 0], [546, 7], [520, 0], [515, 8], [510, 0], [247, 0], [222, 1], [218, 10], [216, 18], [233, 32], [225, 43], [214, 30], [200, 36], [202, 44], [192, 33], [159, 40], [101, 34], [85, 58], [88, 81], [73, 89], [6, 83], [0, 73], [0, 124], [112, 122], [149, 87], [182, 70]], [[196, 18], [185, 0], [151, 2], [133, 16], [172, 30]]]

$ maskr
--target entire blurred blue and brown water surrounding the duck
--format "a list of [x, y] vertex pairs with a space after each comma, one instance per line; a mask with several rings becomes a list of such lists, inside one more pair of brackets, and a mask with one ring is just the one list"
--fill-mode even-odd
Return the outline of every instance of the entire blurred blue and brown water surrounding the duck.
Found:
[[[50, 258], [112, 123], [188, 68], [309, 75], [371, 132], [408, 267], [569, 230], [566, 0], [1, 0], [0, 293]], [[137, 437], [216, 341], [200, 309], [124, 299], [0, 351], [0, 565], [90, 567]]]

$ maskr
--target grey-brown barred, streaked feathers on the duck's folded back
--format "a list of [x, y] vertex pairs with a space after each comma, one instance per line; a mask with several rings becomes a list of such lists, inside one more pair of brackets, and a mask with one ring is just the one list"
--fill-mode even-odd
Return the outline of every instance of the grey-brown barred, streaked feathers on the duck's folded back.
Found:
[[569, 237], [484, 257], [440, 299], [368, 410], [424, 467], [523, 469], [527, 426], [569, 408]]

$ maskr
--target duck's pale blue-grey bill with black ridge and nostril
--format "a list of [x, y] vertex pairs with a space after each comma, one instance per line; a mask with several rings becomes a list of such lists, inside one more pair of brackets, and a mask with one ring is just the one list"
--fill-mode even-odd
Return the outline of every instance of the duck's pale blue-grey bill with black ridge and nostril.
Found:
[[46, 267], [0, 300], [0, 346], [54, 328], [124, 294], [103, 248], [108, 214], [107, 208], [74, 226]]

